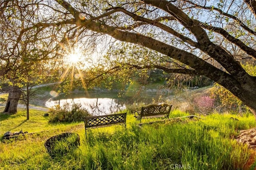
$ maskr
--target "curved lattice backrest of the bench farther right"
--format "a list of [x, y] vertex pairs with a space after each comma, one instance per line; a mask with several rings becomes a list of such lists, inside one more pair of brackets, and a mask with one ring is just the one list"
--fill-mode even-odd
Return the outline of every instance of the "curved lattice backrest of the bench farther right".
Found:
[[162, 105], [148, 105], [141, 108], [141, 117], [145, 116], [155, 116], [155, 115], [167, 115], [169, 116], [172, 105], [162, 104]]

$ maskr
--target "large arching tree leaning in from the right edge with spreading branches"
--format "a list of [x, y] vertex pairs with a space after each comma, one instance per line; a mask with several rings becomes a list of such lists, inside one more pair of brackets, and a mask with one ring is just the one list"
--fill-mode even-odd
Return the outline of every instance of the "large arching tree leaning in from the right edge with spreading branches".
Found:
[[[233, 44], [244, 51], [244, 57], [256, 59], [255, 0], [34, 0], [21, 8], [31, 6], [45, 14], [35, 22], [30, 18], [30, 26], [20, 31], [16, 44], [31, 30], [36, 30], [36, 36], [50, 30], [48, 36], [57, 37], [50, 44], [57, 46], [74, 37], [83, 43], [86, 34], [108, 35], [106, 40], [112, 37], [126, 42], [123, 47], [137, 50], [131, 45], [136, 44], [142, 51], [150, 49], [140, 56], [118, 53], [121, 58], [116, 61], [137, 69], [154, 67], [167, 73], [205, 75], [238, 97], [256, 117], [256, 77], [249, 75], [232, 50], [222, 44]], [[222, 41], [215, 41], [215, 37]], [[120, 65], [113, 68], [120, 69]]]

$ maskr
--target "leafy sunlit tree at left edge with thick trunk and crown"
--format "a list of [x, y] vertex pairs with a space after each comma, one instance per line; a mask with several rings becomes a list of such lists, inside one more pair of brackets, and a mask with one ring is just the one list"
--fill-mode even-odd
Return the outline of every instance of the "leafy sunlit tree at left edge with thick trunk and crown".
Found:
[[[53, 78], [50, 76], [59, 76], [56, 68], [61, 61], [56, 61], [58, 54], [52, 52], [54, 47], [51, 46], [52, 43], [48, 43], [57, 39], [52, 34], [56, 34], [58, 30], [47, 28], [52, 26], [52, 23], [43, 24], [44, 27], [39, 31], [39, 27], [33, 28], [34, 23], [46, 21], [46, 18], [41, 17], [41, 12], [46, 11], [35, 5], [26, 6], [27, 3], [26, 0], [0, 2], [0, 82], [8, 83], [8, 88], [5, 89], [9, 95], [3, 111], [8, 114], [17, 112], [18, 102], [28, 83], [39, 81], [31, 79], [31, 74], [42, 77], [40, 81], [44, 79], [44, 83]], [[51, 34], [48, 34], [49, 31]], [[40, 35], [37, 35], [38, 32]], [[44, 73], [38, 71], [39, 69], [44, 69]], [[0, 88], [1, 86], [2, 84]], [[28, 107], [28, 96], [26, 98]]]

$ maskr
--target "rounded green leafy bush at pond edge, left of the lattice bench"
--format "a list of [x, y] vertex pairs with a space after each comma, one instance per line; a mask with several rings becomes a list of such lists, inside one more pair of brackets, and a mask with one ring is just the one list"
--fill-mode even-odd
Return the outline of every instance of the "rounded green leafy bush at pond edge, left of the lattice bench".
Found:
[[68, 103], [64, 104], [62, 107], [56, 105], [50, 108], [50, 121], [55, 122], [81, 122], [84, 120], [84, 117], [90, 116], [90, 113], [82, 107], [80, 103], [74, 103], [69, 105]]

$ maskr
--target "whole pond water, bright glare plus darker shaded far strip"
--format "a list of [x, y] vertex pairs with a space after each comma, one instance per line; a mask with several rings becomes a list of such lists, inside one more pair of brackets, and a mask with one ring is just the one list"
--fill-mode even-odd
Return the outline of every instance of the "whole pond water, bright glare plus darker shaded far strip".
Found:
[[73, 103], [81, 103], [82, 107], [86, 108], [92, 115], [108, 115], [122, 111], [126, 108], [127, 103], [134, 103], [136, 101], [149, 103], [152, 98], [156, 98], [156, 94], [141, 94], [137, 97], [129, 97], [123, 95], [118, 97], [117, 93], [72, 93], [71, 95], [59, 95], [49, 99], [46, 102], [46, 107], [54, 107], [54, 105], [63, 106], [66, 103], [72, 105]]

